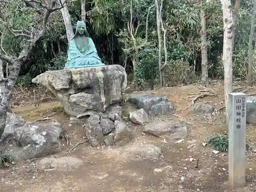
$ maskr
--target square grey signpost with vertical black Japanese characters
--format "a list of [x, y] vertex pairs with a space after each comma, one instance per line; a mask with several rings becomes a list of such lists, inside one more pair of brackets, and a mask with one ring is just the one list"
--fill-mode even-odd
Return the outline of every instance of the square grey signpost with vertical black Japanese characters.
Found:
[[231, 187], [245, 184], [246, 94], [229, 93], [228, 181]]

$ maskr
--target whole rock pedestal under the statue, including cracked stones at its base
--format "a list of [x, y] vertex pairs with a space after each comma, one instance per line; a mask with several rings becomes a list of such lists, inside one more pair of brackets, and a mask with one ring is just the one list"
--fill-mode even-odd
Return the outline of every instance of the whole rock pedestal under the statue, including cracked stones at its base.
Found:
[[[121, 122], [123, 92], [127, 76], [119, 65], [47, 71], [32, 80], [48, 88], [72, 119], [87, 119], [86, 136], [92, 146], [123, 145], [132, 132]], [[79, 122], [79, 120], [78, 120]]]

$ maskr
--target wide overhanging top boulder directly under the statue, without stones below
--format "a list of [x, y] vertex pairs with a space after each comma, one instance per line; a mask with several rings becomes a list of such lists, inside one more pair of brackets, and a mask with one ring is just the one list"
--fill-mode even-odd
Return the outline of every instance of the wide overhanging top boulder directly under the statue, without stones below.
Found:
[[113, 111], [112, 106], [123, 99], [127, 76], [122, 66], [109, 65], [47, 71], [32, 82], [49, 89], [67, 114], [81, 117]]

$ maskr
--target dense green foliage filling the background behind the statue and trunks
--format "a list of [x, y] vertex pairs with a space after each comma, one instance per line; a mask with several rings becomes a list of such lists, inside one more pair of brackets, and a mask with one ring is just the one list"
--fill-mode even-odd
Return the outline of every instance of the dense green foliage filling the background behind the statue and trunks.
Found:
[[[127, 58], [128, 66], [126, 69], [130, 69], [132, 60], [135, 59], [137, 69], [135, 80], [137, 86], [142, 87], [148, 83], [157, 83], [158, 80], [156, 8], [154, 1], [151, 0], [133, 0], [132, 2], [132, 22], [130, 0], [92, 0], [87, 2], [87, 24], [90, 34], [93, 38], [95, 37], [95, 45], [105, 63], [120, 64], [124, 63], [124, 59]], [[237, 79], [247, 77], [247, 50], [250, 18], [253, 12], [252, 5], [252, 0], [241, 2], [233, 51], [233, 75]], [[77, 20], [80, 17], [80, 2], [71, 1], [68, 6], [72, 23], [74, 23], [74, 19]], [[11, 0], [11, 3], [0, 2], [0, 7], [6, 15], [5, 25], [7, 24], [10, 28], [33, 32], [40, 29], [41, 15], [26, 7], [23, 0]], [[220, 2], [209, 0], [201, 5], [199, 2], [189, 0], [164, 1], [162, 19], [163, 27], [166, 30], [168, 52], [165, 80], [169, 86], [191, 83], [198, 79], [201, 64], [201, 8], [205, 10], [207, 18], [209, 76], [212, 78], [224, 77], [222, 61], [223, 13]], [[148, 36], [146, 39], [147, 14]], [[14, 36], [5, 25], [0, 22], [3, 49], [9, 55], [18, 56], [28, 41], [25, 37]], [[133, 32], [133, 36], [131, 32]], [[53, 55], [55, 54], [52, 54], [51, 45], [54, 44], [56, 51], [56, 42], [59, 42], [59, 39], [62, 39], [60, 37], [65, 33], [60, 11], [51, 14], [46, 35], [37, 42], [30, 55], [32, 67], [29, 74], [31, 77], [46, 70], [63, 68], [67, 60], [66, 54], [61, 52], [54, 58]], [[256, 35], [253, 39], [255, 38]], [[118, 42], [113, 39], [118, 39]], [[104, 44], [104, 42], [106, 43]], [[67, 44], [67, 42], [65, 43]], [[63, 41], [60, 43], [61, 50], [66, 50], [66, 48], [63, 49], [67, 46], [65, 43], [63, 44]], [[254, 58], [256, 59], [255, 53]], [[163, 60], [164, 54], [162, 54]], [[253, 75], [256, 78], [254, 72]], [[30, 80], [28, 76], [22, 76], [18, 79], [18, 83], [27, 84], [25, 82]]]

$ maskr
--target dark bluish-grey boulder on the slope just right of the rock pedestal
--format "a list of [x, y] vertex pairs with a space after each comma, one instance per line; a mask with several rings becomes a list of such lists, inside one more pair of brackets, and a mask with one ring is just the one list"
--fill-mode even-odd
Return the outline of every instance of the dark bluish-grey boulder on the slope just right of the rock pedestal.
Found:
[[129, 101], [138, 109], [144, 109], [149, 115], [166, 115], [175, 112], [175, 108], [167, 98], [154, 94], [132, 94]]

